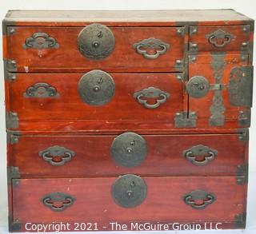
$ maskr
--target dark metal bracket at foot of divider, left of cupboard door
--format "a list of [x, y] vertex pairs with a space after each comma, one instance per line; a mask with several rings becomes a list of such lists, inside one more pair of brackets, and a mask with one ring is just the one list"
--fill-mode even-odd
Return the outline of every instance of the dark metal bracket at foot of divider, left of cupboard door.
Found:
[[195, 112], [179, 112], [174, 117], [175, 128], [195, 128], [197, 125], [197, 114]]

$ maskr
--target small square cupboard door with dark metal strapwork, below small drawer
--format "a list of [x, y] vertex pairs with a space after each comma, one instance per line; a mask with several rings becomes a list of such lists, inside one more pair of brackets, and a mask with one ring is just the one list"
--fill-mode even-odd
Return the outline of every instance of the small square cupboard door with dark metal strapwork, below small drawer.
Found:
[[199, 128], [232, 121], [236, 128], [250, 126], [253, 68], [247, 66], [247, 58], [235, 54], [190, 56], [186, 90]]

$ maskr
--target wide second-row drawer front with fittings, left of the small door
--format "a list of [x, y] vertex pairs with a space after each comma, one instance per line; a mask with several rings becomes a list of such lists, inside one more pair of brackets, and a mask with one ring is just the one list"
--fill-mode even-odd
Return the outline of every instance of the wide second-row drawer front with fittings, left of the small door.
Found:
[[40, 120], [145, 121], [154, 129], [173, 124], [184, 101], [174, 73], [18, 73], [9, 89], [10, 110], [34, 129]]

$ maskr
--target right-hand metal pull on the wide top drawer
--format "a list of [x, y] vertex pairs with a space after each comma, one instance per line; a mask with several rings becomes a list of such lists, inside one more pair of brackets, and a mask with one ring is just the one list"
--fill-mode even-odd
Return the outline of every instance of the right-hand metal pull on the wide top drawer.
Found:
[[[138, 54], [142, 54], [142, 56], [147, 59], [158, 58], [159, 55], [165, 54], [169, 48], [170, 45], [168, 43], [155, 38], [148, 38], [141, 42], [134, 43], [134, 50], [136, 50]], [[148, 54], [149, 51], [152, 54]]]

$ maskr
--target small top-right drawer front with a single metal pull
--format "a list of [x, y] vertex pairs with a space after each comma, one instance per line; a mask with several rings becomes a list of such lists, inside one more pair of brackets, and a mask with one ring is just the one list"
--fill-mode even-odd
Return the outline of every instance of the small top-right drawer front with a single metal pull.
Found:
[[190, 26], [190, 51], [248, 51], [250, 26]]

